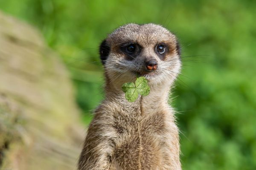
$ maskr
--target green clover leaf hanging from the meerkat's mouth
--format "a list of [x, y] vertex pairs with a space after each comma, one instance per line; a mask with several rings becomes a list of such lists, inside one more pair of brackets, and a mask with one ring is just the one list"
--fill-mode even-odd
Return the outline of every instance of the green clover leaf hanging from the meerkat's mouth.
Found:
[[129, 102], [134, 102], [139, 94], [147, 96], [150, 91], [148, 80], [145, 77], [139, 77], [134, 82], [126, 82], [122, 85], [122, 91], [125, 92], [125, 99]]

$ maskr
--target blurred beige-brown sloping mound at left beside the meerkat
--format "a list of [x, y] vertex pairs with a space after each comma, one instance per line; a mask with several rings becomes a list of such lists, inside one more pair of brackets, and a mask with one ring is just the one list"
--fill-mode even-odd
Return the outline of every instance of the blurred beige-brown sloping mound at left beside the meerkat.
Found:
[[76, 169], [83, 133], [59, 57], [0, 12], [0, 169]]

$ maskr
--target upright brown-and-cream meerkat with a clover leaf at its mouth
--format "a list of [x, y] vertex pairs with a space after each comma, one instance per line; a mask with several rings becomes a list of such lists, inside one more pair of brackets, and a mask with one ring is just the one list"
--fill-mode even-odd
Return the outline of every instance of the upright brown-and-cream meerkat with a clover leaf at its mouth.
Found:
[[[156, 24], [127, 24], [100, 45], [105, 99], [96, 108], [79, 170], [181, 170], [179, 131], [169, 91], [180, 67], [174, 34]], [[150, 93], [128, 102], [121, 86], [137, 75]]]

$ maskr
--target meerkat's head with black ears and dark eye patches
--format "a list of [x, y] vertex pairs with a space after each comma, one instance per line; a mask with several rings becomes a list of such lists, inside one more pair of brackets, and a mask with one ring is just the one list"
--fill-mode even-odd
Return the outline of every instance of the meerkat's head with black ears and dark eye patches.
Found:
[[100, 45], [110, 81], [144, 76], [150, 83], [173, 82], [180, 71], [180, 47], [174, 34], [155, 24], [127, 24]]

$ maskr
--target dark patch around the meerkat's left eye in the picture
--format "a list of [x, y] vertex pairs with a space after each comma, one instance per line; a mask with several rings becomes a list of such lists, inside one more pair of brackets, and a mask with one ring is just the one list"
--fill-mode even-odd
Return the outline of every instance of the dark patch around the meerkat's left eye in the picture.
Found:
[[121, 45], [121, 51], [126, 54], [127, 60], [133, 60], [138, 54], [140, 54], [141, 46], [137, 43], [128, 42]]

